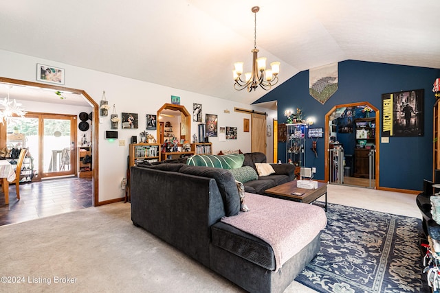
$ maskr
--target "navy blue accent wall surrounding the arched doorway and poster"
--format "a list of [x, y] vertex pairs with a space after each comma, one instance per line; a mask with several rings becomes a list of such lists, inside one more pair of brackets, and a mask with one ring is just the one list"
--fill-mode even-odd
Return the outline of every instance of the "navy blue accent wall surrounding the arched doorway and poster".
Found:
[[[323, 105], [309, 95], [308, 70], [294, 75], [254, 104], [278, 101], [278, 124], [285, 123], [286, 109], [301, 108], [305, 118], [316, 118], [312, 127], [324, 128], [328, 135], [325, 115], [333, 106], [370, 102], [382, 113], [383, 93], [424, 89], [423, 137], [390, 137], [389, 143], [380, 143], [379, 158], [380, 187], [421, 190], [423, 178], [432, 178], [432, 84], [440, 77], [440, 70], [347, 60], [339, 62], [338, 74], [338, 91]], [[315, 178], [324, 180], [324, 138], [318, 139], [317, 147], [318, 158], [311, 152], [311, 140], [307, 139], [305, 165], [316, 167]], [[285, 156], [285, 143], [278, 143], [278, 159], [285, 162]]]

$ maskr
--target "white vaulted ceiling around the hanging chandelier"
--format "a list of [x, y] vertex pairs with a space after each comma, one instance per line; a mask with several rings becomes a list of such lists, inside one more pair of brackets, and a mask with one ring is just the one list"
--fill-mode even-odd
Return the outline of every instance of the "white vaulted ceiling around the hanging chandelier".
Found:
[[2, 2], [0, 49], [247, 104], [267, 93], [232, 88], [234, 62], [250, 70], [254, 5], [281, 83], [349, 59], [440, 68], [438, 0]]

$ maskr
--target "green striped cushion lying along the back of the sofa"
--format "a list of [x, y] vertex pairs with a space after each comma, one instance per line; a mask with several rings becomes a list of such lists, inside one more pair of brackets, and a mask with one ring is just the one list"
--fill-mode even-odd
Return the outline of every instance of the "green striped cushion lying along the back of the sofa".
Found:
[[243, 154], [196, 154], [186, 162], [188, 165], [236, 169], [243, 165]]

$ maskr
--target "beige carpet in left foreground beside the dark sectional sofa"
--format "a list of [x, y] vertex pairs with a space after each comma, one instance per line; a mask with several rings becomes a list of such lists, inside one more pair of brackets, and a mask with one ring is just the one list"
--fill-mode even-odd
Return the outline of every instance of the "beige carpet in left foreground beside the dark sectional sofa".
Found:
[[135, 227], [128, 203], [0, 226], [0, 247], [0, 292], [242, 292]]

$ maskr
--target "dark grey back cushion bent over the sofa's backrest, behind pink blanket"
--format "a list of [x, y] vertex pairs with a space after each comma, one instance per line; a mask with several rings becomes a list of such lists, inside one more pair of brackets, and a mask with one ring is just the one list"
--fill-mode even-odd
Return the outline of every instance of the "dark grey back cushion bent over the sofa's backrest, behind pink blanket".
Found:
[[234, 176], [225, 169], [213, 167], [198, 167], [184, 165], [179, 169], [180, 173], [201, 176], [206, 178], [214, 178], [219, 187], [221, 198], [225, 206], [225, 215], [236, 215], [240, 211], [240, 196], [235, 185]]

